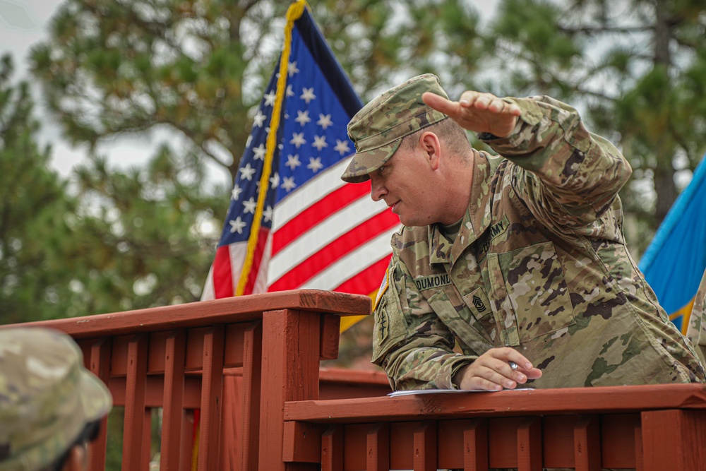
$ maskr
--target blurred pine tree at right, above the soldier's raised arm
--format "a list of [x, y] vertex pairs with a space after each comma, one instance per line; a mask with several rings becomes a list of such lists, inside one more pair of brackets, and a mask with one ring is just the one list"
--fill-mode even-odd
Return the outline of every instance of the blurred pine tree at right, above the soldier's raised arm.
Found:
[[638, 258], [706, 151], [706, 4], [505, 0], [488, 32], [493, 90], [582, 108], [630, 161], [621, 196]]

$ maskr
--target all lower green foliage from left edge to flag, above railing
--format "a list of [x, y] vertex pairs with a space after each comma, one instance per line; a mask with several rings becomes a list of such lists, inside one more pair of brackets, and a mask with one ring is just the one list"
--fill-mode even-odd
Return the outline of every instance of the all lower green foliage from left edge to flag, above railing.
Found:
[[[0, 290], [4, 323], [191, 302], [200, 297], [225, 188], [205, 193], [193, 153], [166, 145], [142, 169], [93, 156], [68, 184], [40, 150], [26, 83], [0, 66]], [[215, 229], [214, 229], [215, 228]]]

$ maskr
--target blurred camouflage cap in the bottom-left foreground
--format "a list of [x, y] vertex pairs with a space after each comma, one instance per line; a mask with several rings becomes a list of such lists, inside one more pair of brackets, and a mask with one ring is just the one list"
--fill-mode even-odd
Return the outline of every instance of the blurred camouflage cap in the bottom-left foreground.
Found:
[[73, 445], [112, 398], [71, 337], [0, 329], [0, 471], [35, 471]]

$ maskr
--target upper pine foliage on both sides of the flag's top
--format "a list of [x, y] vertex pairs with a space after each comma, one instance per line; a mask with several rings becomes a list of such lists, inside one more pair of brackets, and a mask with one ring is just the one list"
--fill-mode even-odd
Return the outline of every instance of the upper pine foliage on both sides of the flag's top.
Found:
[[[167, 127], [186, 136], [185, 153], [234, 177], [249, 112], [280, 51], [287, 6], [66, 0], [52, 18], [50, 39], [32, 50], [32, 71], [74, 143], [95, 146]], [[401, 9], [408, 14], [397, 16]], [[460, 0], [329, 0], [313, 10], [362, 95], [387, 87], [400, 69], [436, 71], [454, 83], [481, 56], [478, 18]]]

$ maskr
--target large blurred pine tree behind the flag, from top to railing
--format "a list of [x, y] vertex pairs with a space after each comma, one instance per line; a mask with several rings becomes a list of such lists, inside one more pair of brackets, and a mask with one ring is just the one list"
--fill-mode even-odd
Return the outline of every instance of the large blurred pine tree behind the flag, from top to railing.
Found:
[[[69, 219], [80, 225], [74, 270], [83, 273], [64, 278], [74, 299], [54, 316], [199, 298], [230, 189], [208, 178], [208, 166], [236, 174], [280, 54], [288, 6], [61, 4], [49, 38], [32, 47], [30, 66], [64, 137], [89, 153], [73, 171], [69, 192], [77, 205]], [[460, 93], [465, 84], [453, 77], [471, 76], [482, 58], [479, 16], [461, 1], [329, 0], [313, 5], [313, 15], [366, 98], [429, 69]], [[133, 169], [117, 170], [97, 152], [98, 143], [155, 130], [172, 138]]]

